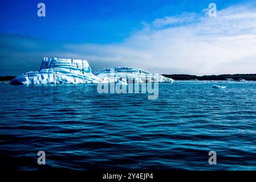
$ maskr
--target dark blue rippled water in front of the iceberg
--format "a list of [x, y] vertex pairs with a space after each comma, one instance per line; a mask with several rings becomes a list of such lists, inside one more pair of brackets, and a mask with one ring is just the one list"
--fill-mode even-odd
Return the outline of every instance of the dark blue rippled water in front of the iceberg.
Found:
[[0, 84], [1, 168], [255, 170], [256, 83], [213, 84], [160, 84], [157, 100], [91, 84]]

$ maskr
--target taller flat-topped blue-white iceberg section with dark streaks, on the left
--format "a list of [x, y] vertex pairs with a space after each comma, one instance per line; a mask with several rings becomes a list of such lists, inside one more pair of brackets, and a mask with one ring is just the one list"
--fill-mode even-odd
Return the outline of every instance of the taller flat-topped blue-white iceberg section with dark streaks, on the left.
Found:
[[44, 57], [38, 72], [27, 72], [11, 84], [80, 84], [98, 83], [86, 60], [58, 59]]

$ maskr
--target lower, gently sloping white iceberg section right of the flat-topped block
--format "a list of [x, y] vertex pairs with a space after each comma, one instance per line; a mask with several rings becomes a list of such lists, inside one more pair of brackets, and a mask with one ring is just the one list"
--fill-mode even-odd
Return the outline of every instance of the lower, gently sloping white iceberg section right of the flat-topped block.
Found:
[[140, 68], [116, 67], [97, 70], [95, 76], [100, 78], [100, 82], [136, 82], [145, 83], [147, 81], [172, 82], [172, 78], [166, 78], [158, 73], [149, 73]]

